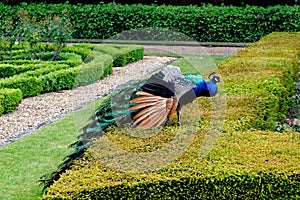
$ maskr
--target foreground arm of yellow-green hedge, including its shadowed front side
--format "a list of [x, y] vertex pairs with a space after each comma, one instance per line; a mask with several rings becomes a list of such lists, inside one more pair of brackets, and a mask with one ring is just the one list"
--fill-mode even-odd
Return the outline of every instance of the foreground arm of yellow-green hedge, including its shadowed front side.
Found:
[[[160, 142], [166, 141], [165, 137], [170, 137], [165, 134], [155, 140], [142, 140], [128, 139], [119, 130], [111, 134], [109, 139], [119, 148], [133, 152], [137, 144], [140, 152], [155, 151]], [[210, 154], [201, 158], [198, 153], [204, 137], [205, 132], [199, 132], [180, 158], [149, 173], [114, 170], [105, 166], [99, 155], [88, 153], [48, 189], [43, 199], [297, 198], [299, 134], [260, 131], [224, 134]], [[103, 147], [95, 142], [91, 148], [89, 152], [98, 152]]]

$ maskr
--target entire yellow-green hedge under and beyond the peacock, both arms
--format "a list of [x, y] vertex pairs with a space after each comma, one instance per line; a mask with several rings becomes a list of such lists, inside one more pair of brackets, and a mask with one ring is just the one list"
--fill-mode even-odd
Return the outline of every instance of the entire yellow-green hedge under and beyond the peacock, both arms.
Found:
[[[217, 116], [214, 123], [222, 121], [212, 111], [209, 98], [196, 102], [200, 124], [195, 106], [192, 109], [188, 105], [183, 110], [187, 118], [184, 126], [165, 127], [149, 138], [112, 127], [106, 137], [129, 153], [176, 146], [176, 138], [190, 139], [191, 143], [188, 147], [179, 145], [183, 153], [173, 155], [176, 159], [163, 167], [136, 173], [126, 169], [137, 160], [129, 156], [127, 162], [114, 163], [124, 152], [112, 154], [113, 148], [103, 151], [106, 143], [101, 137], [43, 199], [300, 198], [300, 134], [271, 132], [290, 105], [299, 47], [299, 33], [273, 33], [219, 66], [227, 101], [225, 133], [208, 134], [213, 116]], [[111, 163], [104, 162], [103, 157]], [[150, 157], [136, 167], [143, 169], [160, 162], [164, 162], [163, 155]]]

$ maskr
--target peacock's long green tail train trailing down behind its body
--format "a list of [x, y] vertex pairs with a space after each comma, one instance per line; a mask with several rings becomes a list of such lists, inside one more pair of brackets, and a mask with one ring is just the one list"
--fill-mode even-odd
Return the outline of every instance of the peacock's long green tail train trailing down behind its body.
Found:
[[136, 92], [141, 90], [145, 82], [146, 80], [128, 82], [104, 97], [101, 104], [95, 110], [95, 114], [91, 117], [92, 122], [82, 128], [82, 133], [78, 136], [78, 140], [70, 145], [70, 147], [74, 148], [74, 152], [66, 156], [56, 171], [40, 178], [44, 189], [58, 180], [60, 175], [64, 173], [75, 160], [84, 156], [85, 151], [92, 144], [92, 139], [101, 137], [112, 125], [122, 127], [122, 125], [132, 123], [132, 118], [137, 111], [128, 109], [136, 105], [135, 103], [131, 103], [130, 100], [137, 97]]

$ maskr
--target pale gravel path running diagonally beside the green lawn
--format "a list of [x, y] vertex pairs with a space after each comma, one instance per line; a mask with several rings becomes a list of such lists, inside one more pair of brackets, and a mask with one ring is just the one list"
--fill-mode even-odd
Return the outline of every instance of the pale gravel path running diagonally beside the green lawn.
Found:
[[0, 116], [0, 146], [65, 116], [122, 83], [140, 79], [174, 60], [176, 58], [145, 56], [125, 67], [115, 67], [112, 75], [94, 84], [23, 99], [15, 112]]

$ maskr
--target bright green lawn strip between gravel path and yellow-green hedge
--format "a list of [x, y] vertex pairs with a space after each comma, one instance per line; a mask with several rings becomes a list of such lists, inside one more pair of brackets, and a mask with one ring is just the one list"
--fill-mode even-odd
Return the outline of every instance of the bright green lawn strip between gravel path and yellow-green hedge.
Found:
[[[185, 66], [187, 62], [201, 62], [208, 68], [227, 57], [189, 56], [175, 63]], [[198, 66], [199, 68], [200, 66]], [[196, 68], [196, 69], [198, 69]], [[185, 73], [193, 72], [189, 65], [183, 68]], [[100, 103], [97, 101], [96, 104]], [[72, 151], [68, 146], [77, 140], [78, 128], [89, 122], [89, 117], [97, 105], [89, 104], [40, 130], [17, 141], [0, 147], [0, 194], [1, 199], [38, 199], [42, 195], [39, 178], [53, 172], [63, 158]]]

